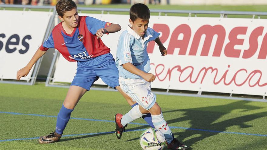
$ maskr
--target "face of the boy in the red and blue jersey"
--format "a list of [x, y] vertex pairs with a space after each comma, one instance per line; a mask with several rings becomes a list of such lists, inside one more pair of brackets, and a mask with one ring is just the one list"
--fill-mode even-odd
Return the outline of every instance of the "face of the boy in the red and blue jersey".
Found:
[[70, 27], [76, 28], [79, 21], [79, 15], [76, 8], [64, 13], [63, 17], [59, 16], [61, 21], [64, 21]]

